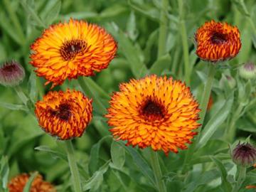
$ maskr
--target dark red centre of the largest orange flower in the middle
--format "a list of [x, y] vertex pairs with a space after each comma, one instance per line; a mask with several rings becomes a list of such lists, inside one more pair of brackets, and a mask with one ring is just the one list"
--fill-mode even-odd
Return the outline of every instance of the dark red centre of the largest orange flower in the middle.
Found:
[[142, 107], [142, 114], [146, 119], [156, 120], [164, 118], [163, 107], [153, 100], [148, 100]]

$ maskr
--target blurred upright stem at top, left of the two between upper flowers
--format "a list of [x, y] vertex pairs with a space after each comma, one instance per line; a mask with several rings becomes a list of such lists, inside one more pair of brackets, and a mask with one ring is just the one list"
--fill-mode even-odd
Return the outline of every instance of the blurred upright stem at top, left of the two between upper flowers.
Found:
[[166, 53], [166, 36], [168, 29], [168, 19], [167, 19], [167, 9], [168, 0], [161, 0], [161, 16], [160, 16], [160, 26], [159, 26], [159, 43], [158, 43], [158, 55], [157, 58], [161, 58], [162, 55]]

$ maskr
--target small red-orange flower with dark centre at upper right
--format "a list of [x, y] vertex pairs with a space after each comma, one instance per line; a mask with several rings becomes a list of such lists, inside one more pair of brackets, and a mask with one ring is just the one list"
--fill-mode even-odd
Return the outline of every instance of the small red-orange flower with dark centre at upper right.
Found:
[[198, 28], [195, 41], [198, 57], [210, 62], [234, 58], [241, 48], [238, 28], [213, 20]]

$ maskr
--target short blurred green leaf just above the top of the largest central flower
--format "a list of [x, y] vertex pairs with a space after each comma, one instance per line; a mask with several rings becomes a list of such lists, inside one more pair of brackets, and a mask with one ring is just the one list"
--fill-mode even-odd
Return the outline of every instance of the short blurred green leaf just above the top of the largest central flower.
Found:
[[151, 66], [150, 68], [150, 73], [151, 74], [156, 74], [156, 75], [161, 75], [161, 72], [169, 68], [171, 64], [171, 56], [169, 54], [161, 56], [156, 62]]

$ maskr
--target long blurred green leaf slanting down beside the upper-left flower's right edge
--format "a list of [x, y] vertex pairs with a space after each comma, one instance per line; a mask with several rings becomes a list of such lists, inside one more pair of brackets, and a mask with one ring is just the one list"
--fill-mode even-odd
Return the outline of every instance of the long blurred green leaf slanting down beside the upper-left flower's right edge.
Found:
[[141, 78], [146, 75], [148, 73], [146, 65], [139, 59], [139, 55], [129, 38], [127, 38], [127, 36], [124, 35], [124, 32], [119, 30], [114, 23], [107, 25], [107, 28], [114, 38], [117, 39], [119, 49], [122, 50], [125, 58], [127, 58], [133, 75], [136, 78]]

